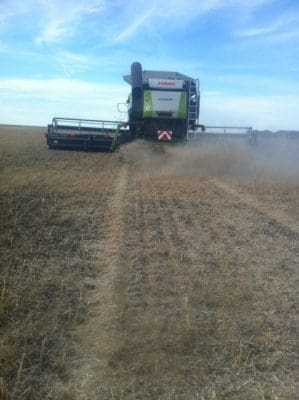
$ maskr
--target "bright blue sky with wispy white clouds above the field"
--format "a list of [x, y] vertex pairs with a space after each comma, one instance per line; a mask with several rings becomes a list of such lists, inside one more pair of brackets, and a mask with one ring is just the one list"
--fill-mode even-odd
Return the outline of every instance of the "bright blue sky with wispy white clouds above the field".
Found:
[[299, 0], [0, 0], [0, 123], [118, 118], [133, 61], [199, 78], [206, 125], [299, 130]]

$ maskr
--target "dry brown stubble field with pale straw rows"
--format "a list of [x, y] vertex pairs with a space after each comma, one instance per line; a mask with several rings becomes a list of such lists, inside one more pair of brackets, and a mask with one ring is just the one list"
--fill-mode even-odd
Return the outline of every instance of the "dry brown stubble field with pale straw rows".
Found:
[[294, 399], [298, 141], [42, 132], [0, 127], [0, 398]]

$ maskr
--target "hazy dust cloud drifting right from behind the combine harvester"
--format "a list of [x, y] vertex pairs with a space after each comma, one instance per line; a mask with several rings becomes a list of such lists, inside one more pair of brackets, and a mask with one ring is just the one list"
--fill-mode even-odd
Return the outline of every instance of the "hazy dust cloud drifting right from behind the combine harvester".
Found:
[[140, 173], [153, 176], [221, 177], [233, 180], [299, 182], [299, 141], [243, 139], [161, 145], [137, 141], [121, 150]]

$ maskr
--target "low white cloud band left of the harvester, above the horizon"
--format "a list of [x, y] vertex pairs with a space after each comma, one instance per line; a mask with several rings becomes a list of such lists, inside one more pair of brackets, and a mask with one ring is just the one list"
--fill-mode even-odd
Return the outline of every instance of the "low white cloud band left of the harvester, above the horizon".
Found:
[[119, 119], [124, 85], [72, 79], [0, 79], [0, 123], [46, 125], [53, 117]]

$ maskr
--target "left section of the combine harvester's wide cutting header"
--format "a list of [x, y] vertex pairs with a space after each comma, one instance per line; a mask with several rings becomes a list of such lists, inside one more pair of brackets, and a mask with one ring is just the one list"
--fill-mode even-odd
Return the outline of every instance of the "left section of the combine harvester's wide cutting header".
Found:
[[131, 138], [125, 126], [118, 121], [53, 118], [48, 125], [47, 144], [49, 149], [114, 151], [121, 141]]

